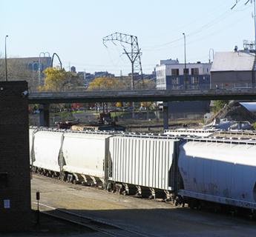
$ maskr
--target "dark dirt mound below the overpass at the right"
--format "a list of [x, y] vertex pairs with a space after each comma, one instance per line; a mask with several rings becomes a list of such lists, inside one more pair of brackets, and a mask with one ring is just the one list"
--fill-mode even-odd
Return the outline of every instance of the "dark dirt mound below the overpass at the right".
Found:
[[249, 121], [251, 124], [256, 122], [256, 116], [239, 102], [232, 102], [226, 105], [219, 112], [215, 113], [214, 116], [211, 116], [211, 118], [206, 121], [206, 124], [211, 124], [215, 118], [227, 118], [233, 121]]

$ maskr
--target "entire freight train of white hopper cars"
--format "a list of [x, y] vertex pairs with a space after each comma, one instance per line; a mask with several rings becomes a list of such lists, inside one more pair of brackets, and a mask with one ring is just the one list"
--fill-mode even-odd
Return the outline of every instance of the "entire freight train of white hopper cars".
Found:
[[191, 209], [228, 205], [256, 213], [255, 134], [202, 134], [30, 127], [30, 163], [35, 173], [124, 195], [165, 198]]

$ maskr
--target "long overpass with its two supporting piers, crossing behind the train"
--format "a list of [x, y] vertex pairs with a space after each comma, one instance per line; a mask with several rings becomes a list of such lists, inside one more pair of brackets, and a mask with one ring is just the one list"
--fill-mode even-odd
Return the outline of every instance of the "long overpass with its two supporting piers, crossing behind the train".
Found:
[[164, 129], [168, 129], [168, 101], [255, 100], [255, 88], [203, 90], [113, 90], [62, 93], [29, 93], [30, 104], [39, 104], [40, 126], [49, 127], [50, 104], [118, 101], [163, 101]]

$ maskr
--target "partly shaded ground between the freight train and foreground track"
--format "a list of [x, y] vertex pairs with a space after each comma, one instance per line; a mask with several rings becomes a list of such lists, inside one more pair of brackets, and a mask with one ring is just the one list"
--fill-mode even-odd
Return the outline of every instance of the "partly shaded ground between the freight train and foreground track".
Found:
[[50, 207], [62, 208], [145, 233], [145, 236], [255, 236], [255, 221], [232, 217], [229, 213], [190, 210], [159, 200], [120, 196], [42, 176], [33, 176], [31, 184], [34, 209], [37, 207], [36, 192], [39, 191], [41, 211], [50, 212]]

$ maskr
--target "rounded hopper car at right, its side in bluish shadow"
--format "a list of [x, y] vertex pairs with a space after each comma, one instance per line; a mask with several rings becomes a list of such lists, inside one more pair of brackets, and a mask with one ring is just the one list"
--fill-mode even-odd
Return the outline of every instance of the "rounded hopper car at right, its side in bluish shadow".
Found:
[[180, 145], [178, 166], [184, 184], [179, 195], [191, 208], [211, 201], [256, 209], [255, 139], [188, 140]]

